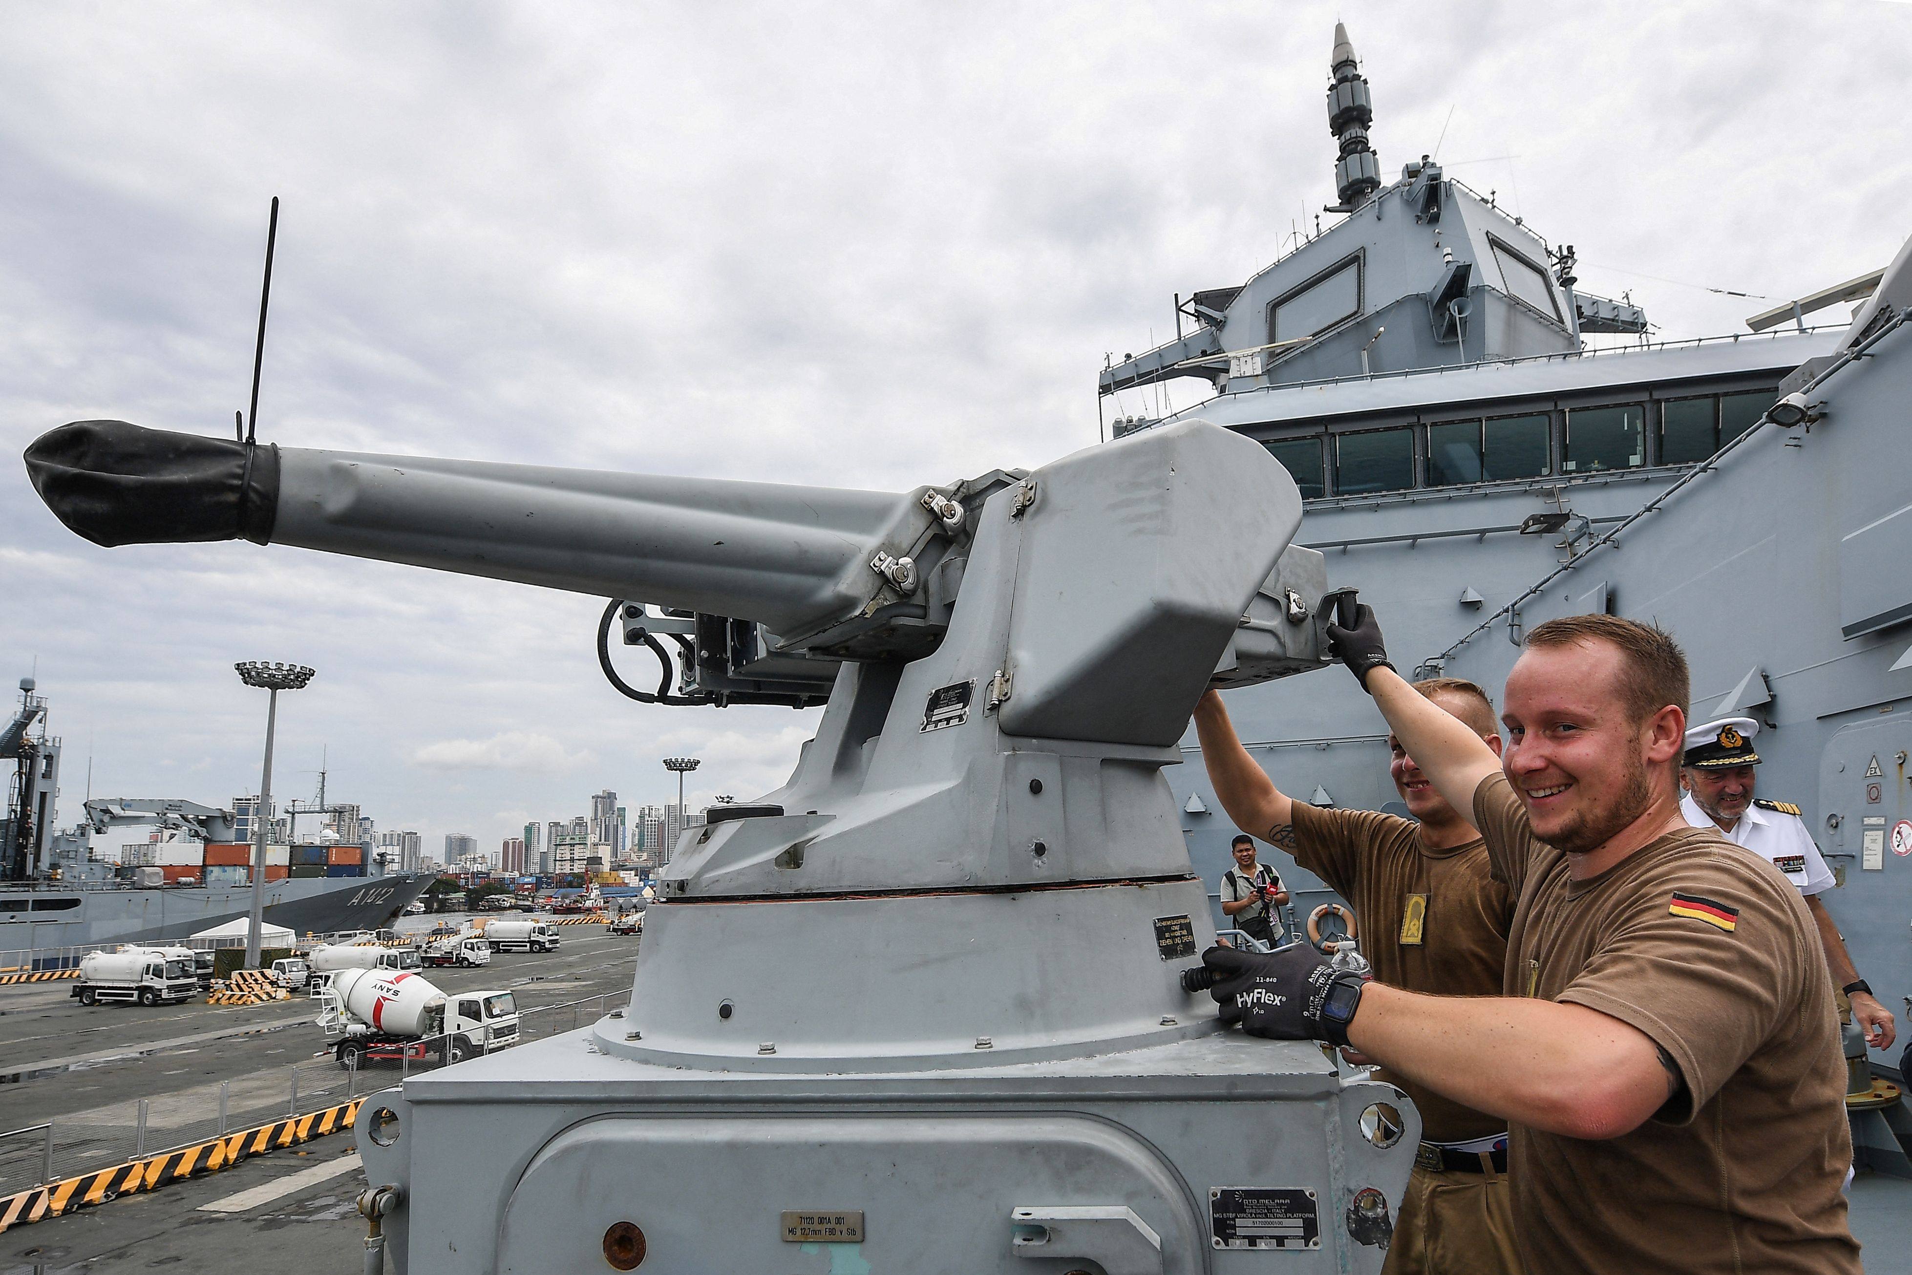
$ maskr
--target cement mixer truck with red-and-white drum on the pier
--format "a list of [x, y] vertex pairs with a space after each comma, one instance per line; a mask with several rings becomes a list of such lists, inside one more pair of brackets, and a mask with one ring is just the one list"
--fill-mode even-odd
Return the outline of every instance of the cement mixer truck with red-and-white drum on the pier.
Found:
[[451, 1065], [516, 1044], [518, 1004], [507, 990], [445, 996], [409, 971], [340, 969], [321, 994], [319, 1026], [340, 1067]]

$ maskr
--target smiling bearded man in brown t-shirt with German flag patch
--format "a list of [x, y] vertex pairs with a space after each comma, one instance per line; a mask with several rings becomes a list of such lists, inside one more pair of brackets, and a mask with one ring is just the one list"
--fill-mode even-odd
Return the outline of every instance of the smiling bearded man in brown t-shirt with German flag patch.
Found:
[[1826, 958], [1772, 864], [1679, 812], [1679, 646], [1612, 616], [1537, 625], [1497, 761], [1394, 673], [1365, 606], [1329, 633], [1514, 889], [1505, 994], [1210, 948], [1224, 1021], [1352, 1044], [1507, 1116], [1530, 1271], [1857, 1273]]

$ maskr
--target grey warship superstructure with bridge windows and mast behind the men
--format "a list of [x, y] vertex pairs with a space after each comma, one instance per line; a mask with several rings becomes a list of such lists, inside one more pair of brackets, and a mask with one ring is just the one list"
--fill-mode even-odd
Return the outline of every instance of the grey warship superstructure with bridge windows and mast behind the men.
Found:
[[[1440, 164], [1382, 184], [1344, 27], [1327, 113], [1344, 216], [1239, 287], [1178, 298], [1187, 333], [1103, 369], [1105, 398], [1178, 377], [1214, 390], [1115, 434], [1203, 419], [1268, 447], [1304, 495], [1298, 543], [1375, 606], [1419, 677], [1497, 694], [1520, 635], [1554, 616], [1669, 629], [1692, 661], [1690, 719], [1763, 723], [1759, 795], [1803, 810], [1853, 960], [1912, 1011], [1912, 245], [1744, 333], [1652, 342], [1640, 306], [1577, 291], [1572, 247]], [[1350, 679], [1228, 702], [1283, 791], [1401, 812], [1386, 726]], [[1193, 730], [1180, 747], [1182, 830], [1216, 881], [1235, 830]], [[1331, 898], [1293, 877], [1296, 902]], [[1897, 1086], [1893, 1053], [1870, 1063]], [[1862, 1158], [1912, 1174], [1901, 1139], [1855, 1132]]]

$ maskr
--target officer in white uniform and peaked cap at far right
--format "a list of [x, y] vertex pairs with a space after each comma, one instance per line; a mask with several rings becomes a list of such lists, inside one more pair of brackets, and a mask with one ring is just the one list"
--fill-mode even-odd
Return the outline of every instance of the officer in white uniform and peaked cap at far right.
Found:
[[1818, 900], [1822, 891], [1834, 887], [1832, 870], [1799, 818], [1799, 807], [1753, 797], [1753, 767], [1759, 765], [1755, 734], [1759, 723], [1751, 717], [1727, 717], [1686, 732], [1686, 755], [1679, 772], [1681, 788], [1686, 789], [1679, 803], [1681, 814], [1694, 828], [1719, 828], [1728, 841], [1759, 854], [1799, 887], [1818, 925], [1832, 981], [1853, 1005], [1853, 1021], [1864, 1028], [1868, 1046], [1885, 1049], [1899, 1034], [1893, 1013], [1858, 977], [1839, 927]]

